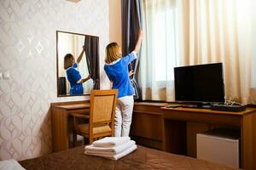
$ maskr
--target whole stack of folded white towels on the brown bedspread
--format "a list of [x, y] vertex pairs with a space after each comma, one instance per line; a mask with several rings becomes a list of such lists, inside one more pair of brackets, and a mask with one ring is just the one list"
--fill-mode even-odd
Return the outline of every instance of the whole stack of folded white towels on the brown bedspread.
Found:
[[112, 160], [119, 160], [137, 149], [135, 141], [130, 137], [105, 137], [85, 146], [84, 154], [103, 156]]

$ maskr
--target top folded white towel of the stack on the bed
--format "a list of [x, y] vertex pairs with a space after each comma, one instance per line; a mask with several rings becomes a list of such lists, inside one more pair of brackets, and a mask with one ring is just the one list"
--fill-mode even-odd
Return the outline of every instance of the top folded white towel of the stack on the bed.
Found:
[[103, 139], [99, 139], [94, 141], [92, 144], [96, 147], [114, 147], [119, 144], [124, 144], [128, 142], [130, 137], [106, 137]]

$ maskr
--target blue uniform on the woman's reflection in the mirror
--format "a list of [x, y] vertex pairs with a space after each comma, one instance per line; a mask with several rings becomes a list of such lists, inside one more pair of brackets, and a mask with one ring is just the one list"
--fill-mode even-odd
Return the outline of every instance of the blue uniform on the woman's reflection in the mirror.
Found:
[[74, 63], [72, 67], [67, 69], [67, 80], [70, 82], [70, 95], [83, 94], [83, 85], [82, 83], [78, 83], [82, 77], [79, 71], [76, 70], [77, 67], [78, 65]]

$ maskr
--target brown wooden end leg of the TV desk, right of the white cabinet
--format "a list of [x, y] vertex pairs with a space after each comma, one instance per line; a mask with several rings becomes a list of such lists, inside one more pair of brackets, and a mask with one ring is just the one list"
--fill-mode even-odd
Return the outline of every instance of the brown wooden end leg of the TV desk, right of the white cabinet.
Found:
[[256, 169], [256, 113], [241, 119], [241, 167]]

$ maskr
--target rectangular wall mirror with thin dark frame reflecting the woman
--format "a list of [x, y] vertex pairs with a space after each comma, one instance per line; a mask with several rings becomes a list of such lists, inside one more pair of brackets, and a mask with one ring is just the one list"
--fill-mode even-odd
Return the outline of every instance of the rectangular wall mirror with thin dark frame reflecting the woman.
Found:
[[99, 37], [56, 31], [58, 97], [100, 88]]

